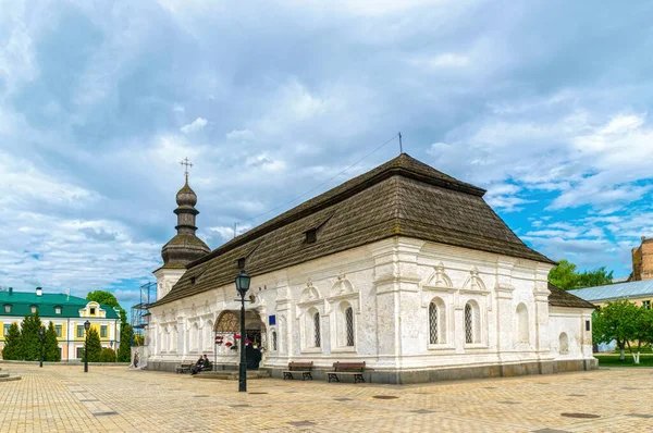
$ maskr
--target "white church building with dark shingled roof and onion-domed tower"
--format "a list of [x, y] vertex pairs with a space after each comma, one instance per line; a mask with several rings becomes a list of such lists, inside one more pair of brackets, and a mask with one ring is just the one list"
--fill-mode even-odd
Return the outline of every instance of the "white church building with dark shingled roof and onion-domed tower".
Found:
[[547, 283], [555, 263], [484, 193], [402, 153], [211, 251], [186, 178], [155, 271], [148, 369], [202, 354], [237, 368], [241, 269], [251, 275], [243, 337], [273, 376], [291, 361], [312, 361], [316, 379], [365, 361], [375, 383], [595, 369], [594, 307]]

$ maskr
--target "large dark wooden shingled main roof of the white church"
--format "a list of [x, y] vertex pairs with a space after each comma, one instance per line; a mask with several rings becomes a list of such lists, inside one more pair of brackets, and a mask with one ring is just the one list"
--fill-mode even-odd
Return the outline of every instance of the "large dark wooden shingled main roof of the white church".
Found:
[[[260, 275], [397, 235], [554, 263], [523, 244], [484, 194], [402, 153], [189, 263], [156, 305], [232, 283], [241, 258]], [[317, 242], [307, 244], [311, 230]]]

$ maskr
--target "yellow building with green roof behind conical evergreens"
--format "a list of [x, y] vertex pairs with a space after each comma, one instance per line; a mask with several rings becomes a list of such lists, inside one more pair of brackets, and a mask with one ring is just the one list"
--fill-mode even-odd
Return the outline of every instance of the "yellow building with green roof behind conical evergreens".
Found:
[[90, 322], [100, 336], [102, 347], [118, 350], [120, 344], [120, 316], [113, 308], [65, 294], [44, 294], [41, 287], [34, 293], [0, 292], [0, 357], [4, 338], [12, 323], [19, 326], [25, 316], [38, 311], [45, 326], [54, 324], [61, 349], [61, 360], [81, 359], [84, 352], [84, 322]]

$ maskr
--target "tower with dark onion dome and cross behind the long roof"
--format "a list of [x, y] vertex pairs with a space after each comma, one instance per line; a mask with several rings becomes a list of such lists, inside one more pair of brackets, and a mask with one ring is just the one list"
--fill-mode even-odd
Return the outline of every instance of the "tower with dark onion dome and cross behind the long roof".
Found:
[[177, 234], [161, 249], [163, 265], [153, 272], [158, 283], [157, 300], [165, 296], [182, 277], [186, 272], [186, 264], [211, 252], [207, 244], [195, 234], [195, 219], [199, 211], [195, 209], [197, 195], [188, 186], [188, 168], [193, 164], [188, 158], [181, 164], [185, 166], [186, 183], [176, 195], [177, 208], [174, 213], [177, 215]]

